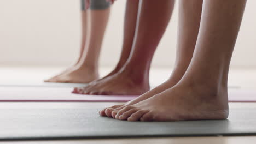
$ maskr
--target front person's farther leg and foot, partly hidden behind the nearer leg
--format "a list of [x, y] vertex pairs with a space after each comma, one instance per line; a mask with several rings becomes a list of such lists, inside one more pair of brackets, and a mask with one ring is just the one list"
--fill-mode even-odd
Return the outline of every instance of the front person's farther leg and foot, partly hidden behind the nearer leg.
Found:
[[124, 106], [133, 105], [139, 101], [153, 97], [155, 94], [161, 93], [166, 89], [173, 87], [176, 85], [176, 83], [178, 83], [179, 80], [181, 80], [188, 68], [196, 45], [202, 13], [202, 0], [181, 0], [179, 1], [178, 10], [179, 24], [177, 35], [176, 67], [174, 67], [170, 79], [132, 101], [129, 101], [123, 105], [115, 105], [100, 111], [102, 116], [107, 115], [115, 117], [116, 112], [118, 112], [118, 110], [122, 109]]

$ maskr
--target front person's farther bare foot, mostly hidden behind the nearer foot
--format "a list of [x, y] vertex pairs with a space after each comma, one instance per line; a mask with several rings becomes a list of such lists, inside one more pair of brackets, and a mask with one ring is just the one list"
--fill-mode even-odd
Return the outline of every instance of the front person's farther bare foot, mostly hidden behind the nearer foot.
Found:
[[[175, 81], [167, 80], [166, 82], [162, 83], [158, 87], [155, 87], [154, 89], [142, 94], [141, 96], [137, 97], [136, 99], [133, 99], [133, 100], [131, 100], [131, 101], [125, 103], [125, 104], [122, 104], [122, 105], [114, 105], [112, 107], [108, 107], [104, 110], [101, 110], [100, 115], [101, 116], [108, 116], [108, 117], [115, 117], [115, 113], [112, 113], [112, 111], [118, 111], [120, 109], [123, 109], [125, 106], [137, 104], [140, 101], [146, 100], [150, 97], [153, 97], [154, 95], [156, 95], [158, 93], [161, 93], [161, 92], [165, 91], [168, 88], [171, 88], [175, 84], [176, 84]], [[112, 114], [113, 114], [113, 116], [112, 116]]]

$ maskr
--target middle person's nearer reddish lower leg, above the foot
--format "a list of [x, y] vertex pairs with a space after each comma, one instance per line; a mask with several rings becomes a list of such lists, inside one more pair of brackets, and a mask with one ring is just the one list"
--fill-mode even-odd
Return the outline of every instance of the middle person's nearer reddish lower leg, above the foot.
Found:
[[162, 35], [170, 21], [174, 1], [140, 2], [136, 35], [132, 52], [122, 73], [138, 82], [148, 85], [150, 64]]

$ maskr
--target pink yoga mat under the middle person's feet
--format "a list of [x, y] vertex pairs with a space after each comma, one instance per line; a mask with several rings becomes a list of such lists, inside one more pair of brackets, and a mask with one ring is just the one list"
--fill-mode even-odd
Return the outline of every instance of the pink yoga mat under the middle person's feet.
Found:
[[[125, 102], [137, 96], [117, 95], [83, 95], [71, 93], [73, 88], [38, 88], [38, 87], [0, 87], [0, 101], [115, 101]], [[253, 102], [256, 101], [256, 90], [229, 89], [229, 101]]]

